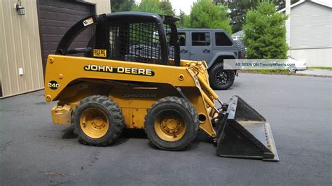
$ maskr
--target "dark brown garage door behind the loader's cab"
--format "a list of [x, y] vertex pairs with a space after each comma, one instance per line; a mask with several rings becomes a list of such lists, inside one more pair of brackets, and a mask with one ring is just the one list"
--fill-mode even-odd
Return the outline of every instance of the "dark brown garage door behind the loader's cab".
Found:
[[[48, 55], [55, 54], [57, 44], [67, 30], [83, 17], [95, 14], [95, 6], [88, 3], [66, 0], [39, 0], [39, 32], [43, 71]], [[92, 29], [84, 31], [71, 44], [72, 48], [83, 48], [92, 36]]]

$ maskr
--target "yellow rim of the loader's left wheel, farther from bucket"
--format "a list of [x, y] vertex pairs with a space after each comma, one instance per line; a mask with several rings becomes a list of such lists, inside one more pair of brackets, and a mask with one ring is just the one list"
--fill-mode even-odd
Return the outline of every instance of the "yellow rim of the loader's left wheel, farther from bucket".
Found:
[[81, 115], [81, 129], [90, 138], [102, 138], [109, 130], [109, 120], [99, 108], [88, 108]]

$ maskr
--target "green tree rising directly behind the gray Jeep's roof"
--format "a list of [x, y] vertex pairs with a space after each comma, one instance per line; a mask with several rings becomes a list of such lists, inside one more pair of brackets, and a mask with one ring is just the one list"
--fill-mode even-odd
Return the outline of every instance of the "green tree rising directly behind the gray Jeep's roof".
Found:
[[190, 26], [192, 28], [225, 29], [232, 34], [228, 7], [217, 5], [212, 0], [198, 0], [191, 8]]

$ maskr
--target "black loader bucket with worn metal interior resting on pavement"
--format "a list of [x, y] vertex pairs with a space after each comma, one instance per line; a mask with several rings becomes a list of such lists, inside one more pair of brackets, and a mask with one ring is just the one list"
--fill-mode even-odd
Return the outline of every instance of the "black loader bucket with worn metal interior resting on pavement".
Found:
[[230, 99], [217, 126], [219, 156], [279, 161], [270, 124], [240, 96]]

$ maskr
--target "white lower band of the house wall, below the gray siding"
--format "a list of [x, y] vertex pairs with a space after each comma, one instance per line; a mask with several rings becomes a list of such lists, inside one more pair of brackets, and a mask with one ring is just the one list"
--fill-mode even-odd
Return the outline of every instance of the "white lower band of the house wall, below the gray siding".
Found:
[[332, 48], [291, 49], [291, 57], [305, 60], [307, 66], [332, 67]]

